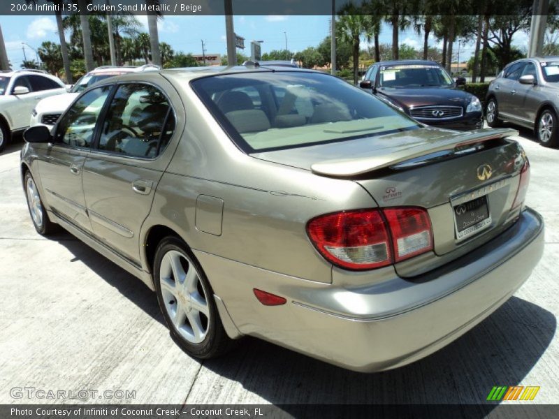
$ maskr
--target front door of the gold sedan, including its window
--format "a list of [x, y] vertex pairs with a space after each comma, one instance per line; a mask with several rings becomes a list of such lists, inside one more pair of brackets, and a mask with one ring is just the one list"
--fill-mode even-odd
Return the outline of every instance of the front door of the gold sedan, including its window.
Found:
[[110, 87], [99, 87], [75, 101], [61, 117], [52, 145], [38, 165], [51, 210], [88, 233], [92, 226], [82, 189], [82, 168], [109, 93]]

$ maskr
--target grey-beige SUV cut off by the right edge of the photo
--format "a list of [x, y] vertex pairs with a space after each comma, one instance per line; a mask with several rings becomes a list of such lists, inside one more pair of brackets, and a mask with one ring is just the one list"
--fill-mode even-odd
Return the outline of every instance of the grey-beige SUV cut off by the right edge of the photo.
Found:
[[559, 57], [520, 59], [507, 65], [489, 83], [486, 119], [533, 129], [546, 147], [559, 146]]

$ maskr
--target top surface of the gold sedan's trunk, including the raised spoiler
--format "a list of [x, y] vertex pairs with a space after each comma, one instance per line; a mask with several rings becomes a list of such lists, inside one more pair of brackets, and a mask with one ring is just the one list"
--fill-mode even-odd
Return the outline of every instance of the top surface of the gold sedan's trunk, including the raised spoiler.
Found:
[[516, 135], [509, 128], [459, 132], [416, 128], [295, 149], [251, 154], [257, 159], [312, 170], [317, 175], [352, 177], [434, 153], [453, 152], [467, 144]]

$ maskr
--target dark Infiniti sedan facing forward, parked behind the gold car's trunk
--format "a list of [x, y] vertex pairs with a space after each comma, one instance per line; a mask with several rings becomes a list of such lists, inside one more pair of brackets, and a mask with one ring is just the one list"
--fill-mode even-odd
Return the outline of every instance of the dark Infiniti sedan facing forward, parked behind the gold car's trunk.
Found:
[[386, 103], [423, 124], [472, 130], [483, 126], [481, 102], [458, 88], [456, 82], [434, 61], [380, 61], [372, 64], [359, 84]]

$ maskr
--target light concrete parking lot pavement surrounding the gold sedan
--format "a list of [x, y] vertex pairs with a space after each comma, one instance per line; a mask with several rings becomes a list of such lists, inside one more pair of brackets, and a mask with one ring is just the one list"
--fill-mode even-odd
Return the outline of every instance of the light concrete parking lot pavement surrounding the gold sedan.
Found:
[[528, 130], [518, 140], [532, 163], [527, 203], [546, 221], [544, 257], [511, 300], [458, 341], [378, 374], [252, 338], [225, 358], [189, 358], [138, 279], [68, 233], [35, 232], [17, 140], [0, 154], [0, 403], [69, 402], [10, 390], [36, 388], [135, 391], [80, 400], [90, 403], [477, 404], [494, 385], [517, 384], [541, 387], [533, 403], [556, 403], [559, 149], [541, 147]]

